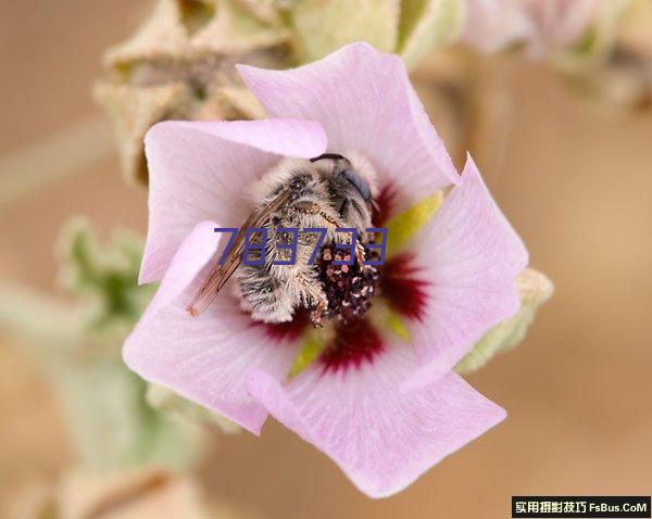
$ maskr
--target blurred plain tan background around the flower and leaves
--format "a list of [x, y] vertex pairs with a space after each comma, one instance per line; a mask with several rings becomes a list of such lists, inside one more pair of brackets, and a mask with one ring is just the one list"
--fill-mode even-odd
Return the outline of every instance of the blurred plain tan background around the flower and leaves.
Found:
[[[55, 293], [53, 242], [73, 214], [104, 233], [116, 224], [145, 231], [146, 192], [123, 183], [89, 88], [102, 50], [146, 8], [2, 2], [2, 186], [14, 186], [12, 175], [28, 185], [39, 160], [55, 175], [53, 150], [90, 143], [88, 165], [0, 205], [1, 278]], [[514, 494], [652, 492], [652, 113], [597, 111], [537, 64], [494, 60], [486, 74], [488, 99], [499, 85], [512, 104], [471, 151], [532, 266], [556, 286], [526, 341], [469, 377], [510, 417], [379, 502], [273, 420], [261, 439], [215, 433], [200, 469], [208, 495], [271, 519], [475, 519], [509, 517]], [[70, 456], [42, 376], [21, 344], [0, 337], [0, 502], [47, 481]]]

